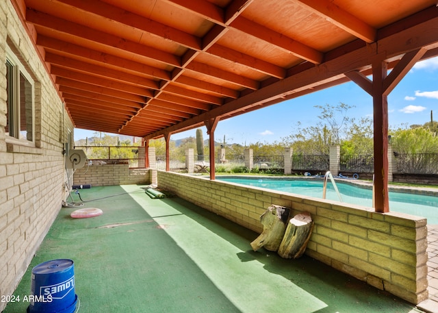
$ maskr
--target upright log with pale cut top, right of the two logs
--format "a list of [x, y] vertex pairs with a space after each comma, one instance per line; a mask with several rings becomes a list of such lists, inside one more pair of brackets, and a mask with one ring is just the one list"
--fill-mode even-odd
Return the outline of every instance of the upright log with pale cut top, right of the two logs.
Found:
[[285, 259], [300, 258], [306, 250], [312, 229], [313, 221], [308, 212], [297, 214], [291, 218], [280, 243], [279, 255]]

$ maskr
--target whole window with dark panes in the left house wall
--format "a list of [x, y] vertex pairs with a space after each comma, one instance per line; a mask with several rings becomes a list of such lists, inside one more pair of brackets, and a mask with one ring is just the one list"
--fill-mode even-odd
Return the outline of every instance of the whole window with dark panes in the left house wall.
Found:
[[6, 49], [6, 82], [6, 136], [34, 145], [34, 80], [9, 48]]

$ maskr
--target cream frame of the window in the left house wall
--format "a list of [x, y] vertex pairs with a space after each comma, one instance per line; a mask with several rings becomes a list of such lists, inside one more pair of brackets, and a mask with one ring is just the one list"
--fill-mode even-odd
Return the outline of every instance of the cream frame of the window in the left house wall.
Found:
[[[6, 46], [6, 60], [5, 64], [12, 65], [12, 90], [8, 90], [8, 94], [12, 94], [12, 103], [8, 101], [8, 133], [6, 133], [5, 140], [6, 142], [18, 145], [25, 145], [28, 147], [36, 147], [36, 117], [35, 117], [35, 81], [21, 62], [18, 56], [10, 49], [10, 47]], [[21, 76], [29, 82], [31, 86], [31, 140], [27, 138], [21, 138], [21, 92], [20, 92], [20, 83]], [[8, 75], [6, 76], [6, 84], [10, 84], [8, 82]], [[9, 95], [8, 95], [9, 96]], [[12, 112], [10, 109], [12, 108]], [[12, 116], [11, 116], [12, 114]], [[10, 123], [12, 122], [12, 123]], [[10, 135], [12, 129], [12, 135]]]

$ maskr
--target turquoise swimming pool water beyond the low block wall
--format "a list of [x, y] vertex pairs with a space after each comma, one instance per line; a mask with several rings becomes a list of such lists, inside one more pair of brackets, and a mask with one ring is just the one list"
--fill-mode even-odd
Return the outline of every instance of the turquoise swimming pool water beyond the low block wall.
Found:
[[[221, 181], [235, 184], [268, 188], [281, 192], [290, 192], [297, 195], [322, 198], [322, 179], [297, 178], [275, 179], [267, 177], [216, 177]], [[337, 180], [336, 186], [345, 203], [365, 205], [372, 207], [372, 189], [349, 184]], [[438, 195], [438, 194], [437, 194]], [[326, 199], [339, 201], [339, 197], [330, 181], [327, 182]], [[389, 191], [389, 210], [426, 217], [428, 224], [438, 225], [438, 196], [418, 195], [408, 192]]]

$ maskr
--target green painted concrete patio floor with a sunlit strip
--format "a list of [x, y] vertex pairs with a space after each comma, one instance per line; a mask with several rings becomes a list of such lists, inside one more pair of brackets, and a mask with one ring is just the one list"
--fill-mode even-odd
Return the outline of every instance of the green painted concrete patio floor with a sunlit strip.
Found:
[[[178, 197], [151, 199], [137, 185], [80, 195], [89, 201], [83, 208], [103, 214], [74, 219], [75, 208], [62, 208], [15, 296], [30, 294], [31, 268], [68, 258], [77, 312], [422, 312], [307, 255], [254, 252], [258, 234]], [[28, 305], [9, 303], [4, 312]]]

